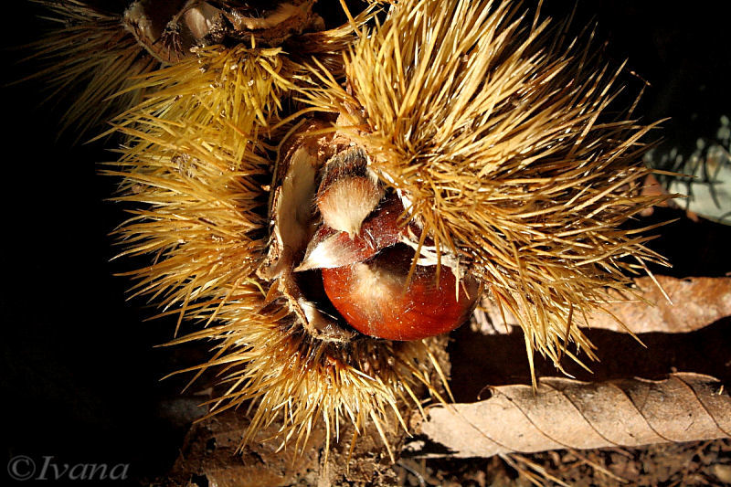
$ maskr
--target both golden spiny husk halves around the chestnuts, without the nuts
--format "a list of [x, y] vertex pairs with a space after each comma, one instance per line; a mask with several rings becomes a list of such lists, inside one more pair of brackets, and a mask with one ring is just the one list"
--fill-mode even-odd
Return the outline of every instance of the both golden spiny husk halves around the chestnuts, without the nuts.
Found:
[[[131, 272], [134, 289], [206, 323], [178, 342], [217, 343], [192, 370], [223, 367], [228, 389], [215, 409], [253, 402], [247, 438], [273, 421], [299, 445], [320, 420], [335, 432], [341, 420], [387, 428], [405, 397], [418, 404], [418, 386], [433, 392], [439, 367], [432, 340], [323, 344], [281, 296], [265, 296], [254, 271], [267, 243], [270, 150], [289, 128], [293, 90], [309, 111], [353, 117], [340, 130], [411, 203], [422, 235], [521, 320], [529, 354], [558, 363], [574, 341], [590, 356], [583, 313], [606, 305], [607, 288], [626, 290], [625, 271], [662, 261], [620, 229], [657, 201], [636, 194], [651, 127], [608, 113], [619, 71], [588, 48], [559, 48], [545, 22], [530, 20], [506, 2], [404, 0], [383, 25], [357, 27], [344, 65], [335, 52], [355, 26], [303, 36], [299, 54], [201, 48], [129, 87], [154, 91], [117, 120], [130, 138], [110, 171], [134, 206], [120, 228], [124, 253], [154, 255]], [[310, 54], [316, 69], [303, 65]]]

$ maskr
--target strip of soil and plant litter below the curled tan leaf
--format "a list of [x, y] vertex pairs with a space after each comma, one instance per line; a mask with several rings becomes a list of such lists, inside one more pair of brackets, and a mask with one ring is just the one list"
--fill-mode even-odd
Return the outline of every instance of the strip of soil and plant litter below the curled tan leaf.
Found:
[[[731, 439], [652, 445], [641, 449], [554, 450], [502, 459], [399, 461], [398, 485], [527, 487], [545, 485], [731, 484]], [[551, 480], [553, 478], [554, 480]]]

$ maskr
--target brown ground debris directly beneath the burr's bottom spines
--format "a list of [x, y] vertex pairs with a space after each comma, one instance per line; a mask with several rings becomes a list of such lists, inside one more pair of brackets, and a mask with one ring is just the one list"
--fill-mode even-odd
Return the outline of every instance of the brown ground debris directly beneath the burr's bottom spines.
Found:
[[[375, 482], [393, 485], [387, 449], [372, 423], [353, 441], [353, 428], [341, 429], [340, 442], [326, 452], [326, 431], [321, 423], [313, 428], [302, 450], [270, 439], [280, 428], [272, 424], [239, 450], [249, 420], [241, 411], [228, 411], [196, 424], [187, 434], [167, 483], [191, 486], [204, 477], [218, 487], [281, 487], [342, 485], [343, 482]], [[403, 429], [387, 431], [389, 440], [400, 446]], [[355, 461], [355, 459], [357, 459]]]

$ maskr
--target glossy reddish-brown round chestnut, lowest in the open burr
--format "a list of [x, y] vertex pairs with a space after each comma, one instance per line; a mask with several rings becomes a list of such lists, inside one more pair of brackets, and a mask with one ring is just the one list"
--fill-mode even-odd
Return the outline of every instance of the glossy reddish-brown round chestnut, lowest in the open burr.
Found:
[[365, 262], [323, 269], [335, 309], [357, 331], [388, 340], [420, 340], [454, 330], [469, 317], [479, 286], [459, 283], [447, 267], [416, 266], [414, 251], [399, 244]]

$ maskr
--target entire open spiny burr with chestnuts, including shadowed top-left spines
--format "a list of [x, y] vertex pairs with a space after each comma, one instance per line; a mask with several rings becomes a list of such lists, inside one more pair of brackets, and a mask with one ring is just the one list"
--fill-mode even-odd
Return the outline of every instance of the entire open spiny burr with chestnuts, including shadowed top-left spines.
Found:
[[[110, 174], [138, 215], [119, 229], [123, 253], [151, 259], [132, 273], [139, 293], [217, 323], [178, 340], [216, 344], [200, 366], [224, 370], [213, 412], [248, 408], [245, 441], [271, 425], [304, 449], [318, 425], [329, 439], [350, 419], [387, 442], [406, 424], [402, 398], [420, 407], [419, 389], [439, 389], [427, 381], [445, 376], [443, 340], [354, 328], [397, 340], [459, 325], [482, 291], [460, 265], [514, 312], [528, 348], [556, 365], [569, 343], [595, 358], [578, 317], [608, 309], [606, 290], [628, 289], [633, 266], [664, 263], [623, 229], [663, 199], [634, 191], [654, 124], [615, 105], [623, 77], [600, 49], [508, 0], [399, 0], [382, 22], [366, 9], [323, 32], [310, 32], [313, 0], [255, 3], [272, 8], [138, 0], [106, 16], [86, 0], [44, 2], [64, 28], [33, 56], [60, 67], [43, 71], [59, 90], [79, 82], [92, 101], [68, 126], [123, 113]], [[299, 13], [273, 11], [285, 4]], [[79, 66], [83, 81], [68, 76]], [[97, 111], [110, 100], [124, 103]], [[342, 170], [348, 157], [357, 170]], [[410, 221], [378, 233], [389, 195]], [[409, 275], [415, 257], [442, 266]]]

